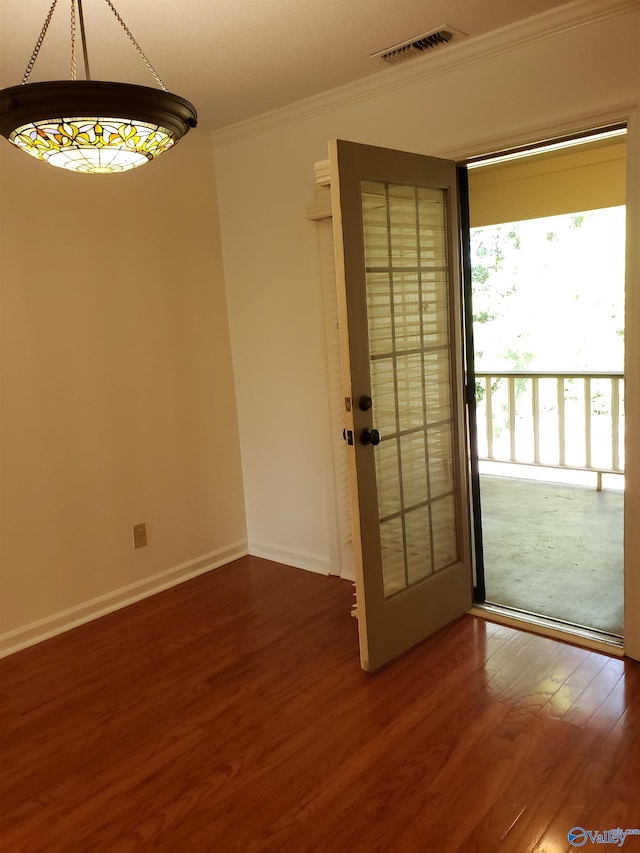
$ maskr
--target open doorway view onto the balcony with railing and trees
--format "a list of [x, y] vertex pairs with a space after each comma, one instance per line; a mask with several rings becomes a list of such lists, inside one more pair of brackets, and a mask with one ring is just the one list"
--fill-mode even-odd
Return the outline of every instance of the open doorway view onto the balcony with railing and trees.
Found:
[[625, 134], [469, 174], [478, 596], [619, 637]]

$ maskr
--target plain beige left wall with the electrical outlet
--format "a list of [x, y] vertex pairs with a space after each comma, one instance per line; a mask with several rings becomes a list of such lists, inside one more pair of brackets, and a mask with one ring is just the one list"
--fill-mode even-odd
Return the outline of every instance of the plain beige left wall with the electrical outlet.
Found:
[[113, 177], [2, 142], [0, 284], [1, 654], [246, 552], [207, 136]]

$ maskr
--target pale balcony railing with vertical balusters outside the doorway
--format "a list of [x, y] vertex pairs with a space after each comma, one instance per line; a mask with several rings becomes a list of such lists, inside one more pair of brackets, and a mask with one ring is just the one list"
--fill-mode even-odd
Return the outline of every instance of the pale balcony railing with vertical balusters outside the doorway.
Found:
[[624, 374], [476, 373], [481, 460], [624, 473]]

